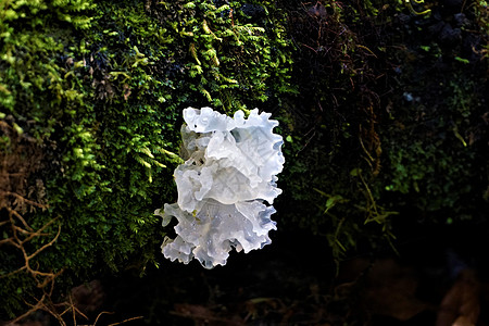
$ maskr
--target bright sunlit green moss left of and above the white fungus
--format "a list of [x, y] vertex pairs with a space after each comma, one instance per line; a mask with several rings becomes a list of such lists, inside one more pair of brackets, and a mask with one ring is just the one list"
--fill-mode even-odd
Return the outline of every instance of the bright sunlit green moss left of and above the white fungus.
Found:
[[[176, 193], [181, 109], [234, 112], [291, 90], [284, 15], [269, 3], [254, 4], [260, 20], [240, 10], [240, 1], [1, 5], [0, 116], [42, 146], [42, 167], [26, 177], [42, 180], [49, 209], [22, 215], [34, 229], [54, 221], [45, 229], [49, 237], [32, 239], [29, 250], [61, 227], [53, 246], [35, 258], [39, 271], [64, 271], [55, 293], [95, 275], [155, 263], [163, 229], [153, 211]], [[9, 201], [2, 209], [15, 206]], [[15, 248], [3, 248], [0, 273], [7, 275], [25, 262]], [[1, 281], [2, 318], [47, 290], [22, 272]]]

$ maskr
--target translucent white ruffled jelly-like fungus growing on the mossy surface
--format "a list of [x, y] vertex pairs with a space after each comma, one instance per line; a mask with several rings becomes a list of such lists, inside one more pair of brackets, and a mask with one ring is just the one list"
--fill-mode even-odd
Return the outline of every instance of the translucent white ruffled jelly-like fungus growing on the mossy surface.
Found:
[[177, 237], [165, 238], [165, 258], [188, 264], [196, 258], [205, 268], [225, 265], [233, 248], [248, 253], [271, 243], [276, 229], [273, 200], [281, 193], [276, 175], [284, 167], [277, 121], [258, 109], [244, 118], [213, 111], [184, 110], [183, 155], [175, 170], [178, 201], [165, 204], [163, 226], [176, 217]]

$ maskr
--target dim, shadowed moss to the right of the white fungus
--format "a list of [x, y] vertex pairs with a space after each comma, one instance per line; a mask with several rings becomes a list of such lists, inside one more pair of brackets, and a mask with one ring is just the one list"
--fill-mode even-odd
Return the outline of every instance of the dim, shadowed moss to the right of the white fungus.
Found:
[[293, 142], [278, 211], [286, 227], [325, 235], [336, 258], [487, 208], [480, 5], [448, 47], [432, 32], [439, 18], [399, 4], [288, 3], [299, 95], [283, 105]]

